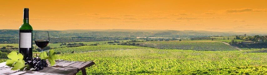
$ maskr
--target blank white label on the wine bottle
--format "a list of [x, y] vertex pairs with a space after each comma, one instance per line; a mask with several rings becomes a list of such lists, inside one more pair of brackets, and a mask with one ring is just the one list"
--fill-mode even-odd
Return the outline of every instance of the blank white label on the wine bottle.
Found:
[[20, 32], [20, 47], [21, 48], [32, 47], [32, 33]]

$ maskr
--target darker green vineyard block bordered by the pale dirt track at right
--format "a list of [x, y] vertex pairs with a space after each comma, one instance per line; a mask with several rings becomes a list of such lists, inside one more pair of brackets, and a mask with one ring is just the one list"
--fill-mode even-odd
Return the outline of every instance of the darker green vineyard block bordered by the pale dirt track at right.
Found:
[[188, 42], [141, 42], [145, 47], [159, 49], [181, 49], [195, 51], [237, 51], [234, 47], [216, 41], [188, 41]]

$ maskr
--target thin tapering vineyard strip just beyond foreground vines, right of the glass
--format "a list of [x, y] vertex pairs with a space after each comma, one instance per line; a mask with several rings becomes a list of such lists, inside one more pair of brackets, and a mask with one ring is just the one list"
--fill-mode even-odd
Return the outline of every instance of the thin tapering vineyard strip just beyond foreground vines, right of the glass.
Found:
[[120, 50], [120, 49], [141, 49], [149, 47], [137, 47], [137, 46], [122, 46], [122, 45], [99, 45], [99, 46], [81, 46], [81, 47], [66, 47], [53, 49], [55, 52], [60, 53], [76, 53], [88, 52], [88, 51], [99, 51], [99, 50]]

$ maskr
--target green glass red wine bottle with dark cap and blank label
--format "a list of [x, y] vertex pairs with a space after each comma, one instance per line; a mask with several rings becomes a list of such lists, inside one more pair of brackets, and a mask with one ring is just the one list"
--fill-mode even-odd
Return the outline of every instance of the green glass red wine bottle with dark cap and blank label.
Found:
[[19, 27], [19, 53], [23, 60], [33, 57], [33, 27], [29, 24], [29, 8], [23, 9], [23, 24]]

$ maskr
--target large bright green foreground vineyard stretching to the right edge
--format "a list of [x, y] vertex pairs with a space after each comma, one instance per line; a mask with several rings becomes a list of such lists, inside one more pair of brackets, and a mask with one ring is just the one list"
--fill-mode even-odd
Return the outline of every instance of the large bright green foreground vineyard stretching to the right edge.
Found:
[[87, 69], [88, 74], [267, 74], [266, 53], [128, 49], [61, 54], [60, 58], [93, 60], [96, 64]]

